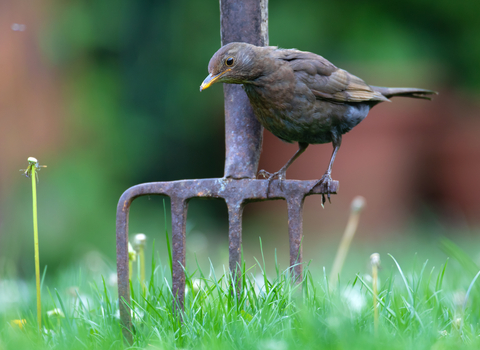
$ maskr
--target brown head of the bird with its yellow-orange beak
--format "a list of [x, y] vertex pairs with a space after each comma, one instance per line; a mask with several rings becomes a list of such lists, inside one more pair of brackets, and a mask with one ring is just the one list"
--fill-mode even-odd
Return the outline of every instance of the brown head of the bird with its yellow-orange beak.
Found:
[[215, 83], [245, 84], [257, 78], [261, 71], [257, 57], [262, 48], [247, 43], [233, 42], [222, 46], [210, 59], [208, 73], [200, 91]]

